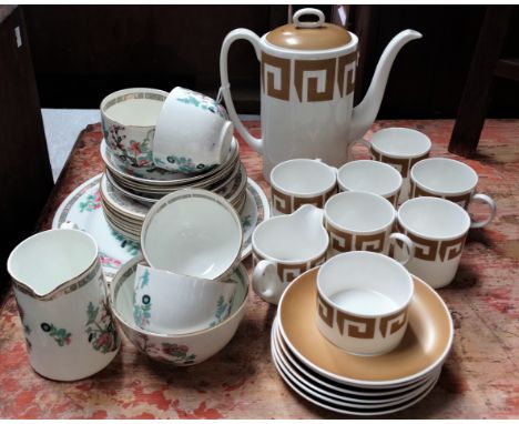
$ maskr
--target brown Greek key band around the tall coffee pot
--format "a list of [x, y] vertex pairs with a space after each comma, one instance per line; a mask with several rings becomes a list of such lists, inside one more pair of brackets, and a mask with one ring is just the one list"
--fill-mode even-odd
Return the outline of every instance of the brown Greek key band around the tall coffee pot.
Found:
[[[335, 87], [340, 98], [355, 89], [355, 63], [358, 52], [320, 60], [291, 60], [262, 53], [262, 85], [267, 95], [288, 101], [294, 84], [299, 102], [322, 102], [334, 99]], [[291, 82], [292, 67], [294, 81]]]

